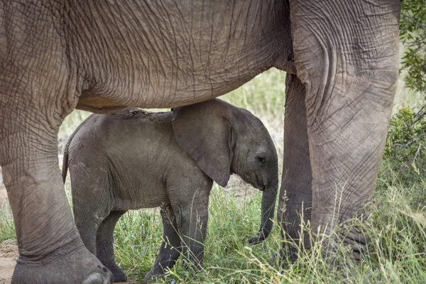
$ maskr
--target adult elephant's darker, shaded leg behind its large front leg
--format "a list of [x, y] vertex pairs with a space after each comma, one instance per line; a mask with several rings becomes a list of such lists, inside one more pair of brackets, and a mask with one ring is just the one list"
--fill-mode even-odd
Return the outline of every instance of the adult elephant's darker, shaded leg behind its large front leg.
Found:
[[[285, 126], [283, 177], [278, 204], [278, 222], [283, 225], [284, 257], [297, 258], [297, 246], [309, 249], [310, 240], [302, 232], [302, 221], [310, 220], [312, 172], [306, 129], [305, 86], [295, 75], [285, 79]], [[303, 217], [303, 220], [301, 219]]]

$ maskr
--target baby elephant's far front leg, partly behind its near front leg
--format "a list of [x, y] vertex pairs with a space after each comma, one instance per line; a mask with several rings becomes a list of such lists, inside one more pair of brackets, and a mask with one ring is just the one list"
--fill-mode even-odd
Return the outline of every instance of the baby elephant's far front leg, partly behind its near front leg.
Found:
[[170, 204], [163, 204], [160, 213], [163, 219], [163, 242], [154, 266], [146, 273], [145, 278], [162, 275], [165, 268], [172, 268], [175, 265], [180, 255], [180, 236], [173, 208]]

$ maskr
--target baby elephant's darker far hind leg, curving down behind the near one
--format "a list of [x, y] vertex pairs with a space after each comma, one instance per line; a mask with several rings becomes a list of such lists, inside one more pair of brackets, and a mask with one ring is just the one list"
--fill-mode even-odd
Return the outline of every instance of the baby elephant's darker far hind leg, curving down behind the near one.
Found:
[[121, 215], [126, 211], [112, 211], [99, 226], [96, 237], [96, 253], [99, 261], [102, 261], [114, 275], [114, 282], [127, 280], [126, 274], [117, 266], [114, 258], [114, 228]]

